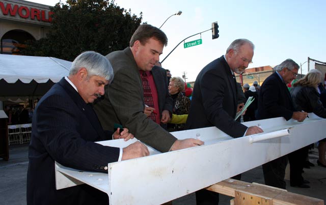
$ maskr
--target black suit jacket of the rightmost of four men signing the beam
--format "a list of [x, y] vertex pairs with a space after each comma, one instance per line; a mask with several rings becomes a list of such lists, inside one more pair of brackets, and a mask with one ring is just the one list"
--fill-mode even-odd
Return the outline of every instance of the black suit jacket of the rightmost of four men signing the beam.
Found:
[[268, 76], [260, 87], [257, 118], [268, 119], [283, 117], [292, 118], [294, 108], [286, 84], [275, 72]]

